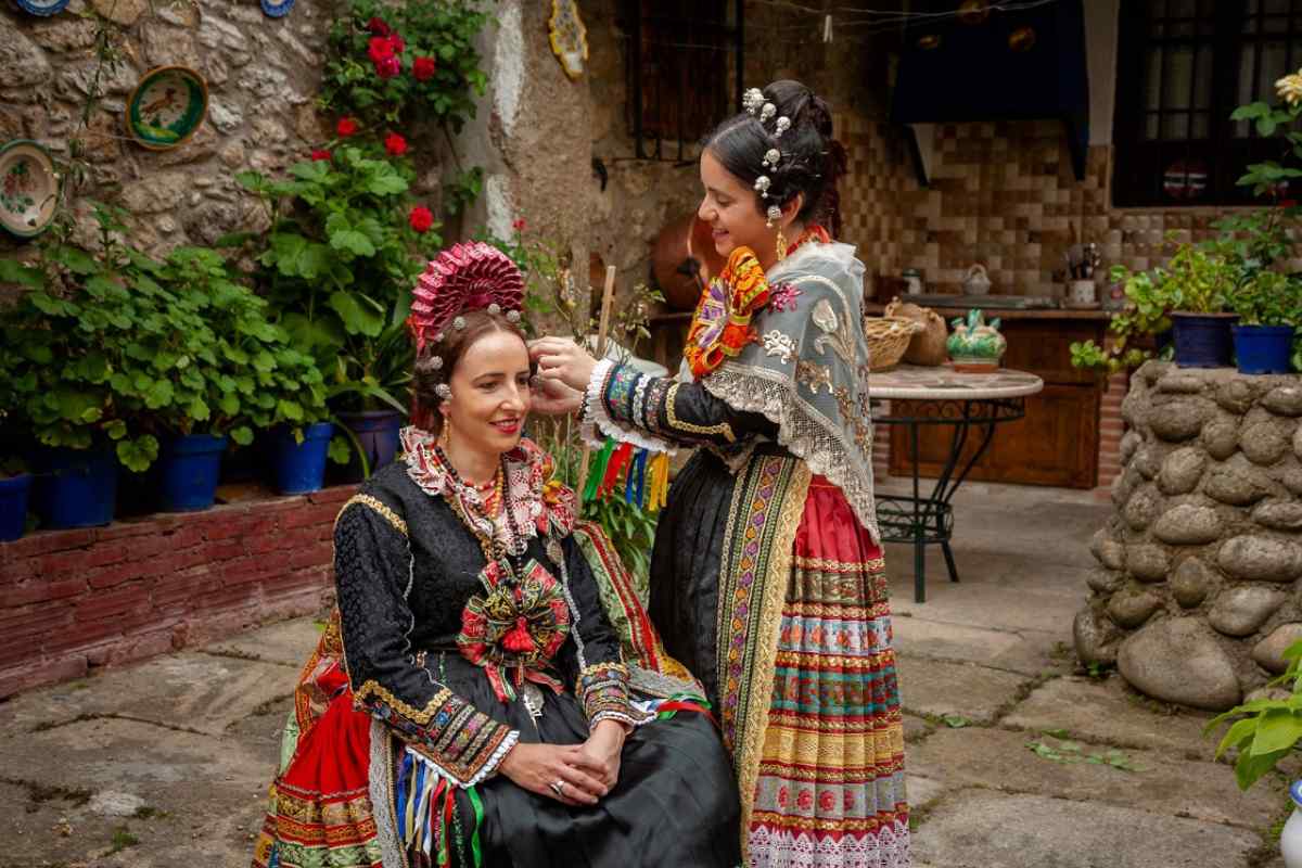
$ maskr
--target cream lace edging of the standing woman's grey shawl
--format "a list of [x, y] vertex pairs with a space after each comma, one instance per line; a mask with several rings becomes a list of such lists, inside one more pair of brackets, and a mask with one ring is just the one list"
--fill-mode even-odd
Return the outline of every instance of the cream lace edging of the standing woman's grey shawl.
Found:
[[729, 406], [760, 413], [775, 423], [777, 442], [803, 459], [812, 472], [827, 476], [840, 488], [855, 518], [872, 535], [872, 541], [881, 544], [872, 497], [871, 454], [866, 459], [854, 457], [858, 449], [820, 420], [820, 414], [797, 394], [788, 375], [724, 362], [713, 373], [702, 377], [700, 384]]

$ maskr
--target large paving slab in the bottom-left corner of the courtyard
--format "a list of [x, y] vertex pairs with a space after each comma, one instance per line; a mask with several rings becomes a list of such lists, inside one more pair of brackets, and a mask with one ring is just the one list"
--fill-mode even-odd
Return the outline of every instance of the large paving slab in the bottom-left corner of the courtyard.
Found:
[[[266, 724], [270, 737], [280, 721]], [[104, 718], [0, 739], [0, 864], [247, 864], [277, 756], [268, 737]], [[113, 809], [133, 804], [154, 815]], [[138, 843], [109, 856], [115, 829]]]

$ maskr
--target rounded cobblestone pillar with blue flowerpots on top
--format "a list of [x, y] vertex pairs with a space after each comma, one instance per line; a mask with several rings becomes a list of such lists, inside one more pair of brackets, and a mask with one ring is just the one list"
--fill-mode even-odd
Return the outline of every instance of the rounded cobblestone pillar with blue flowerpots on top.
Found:
[[1229, 708], [1302, 638], [1302, 377], [1150, 362], [1122, 416], [1077, 653], [1150, 696]]

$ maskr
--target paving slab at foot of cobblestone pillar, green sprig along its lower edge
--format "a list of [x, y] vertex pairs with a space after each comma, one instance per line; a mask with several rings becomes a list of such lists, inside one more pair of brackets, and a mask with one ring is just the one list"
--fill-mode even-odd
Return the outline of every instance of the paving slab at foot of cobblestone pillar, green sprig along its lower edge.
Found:
[[1217, 739], [1202, 734], [1212, 714], [1190, 709], [1157, 714], [1154, 705], [1117, 677], [1066, 677], [1038, 687], [1003, 724], [1032, 731], [1065, 729], [1091, 742], [1212, 759]]

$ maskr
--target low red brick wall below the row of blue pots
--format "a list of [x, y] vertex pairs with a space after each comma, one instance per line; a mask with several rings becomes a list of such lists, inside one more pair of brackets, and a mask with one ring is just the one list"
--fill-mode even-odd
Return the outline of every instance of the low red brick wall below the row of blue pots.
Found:
[[0, 543], [0, 699], [320, 610], [335, 515], [355, 491]]

